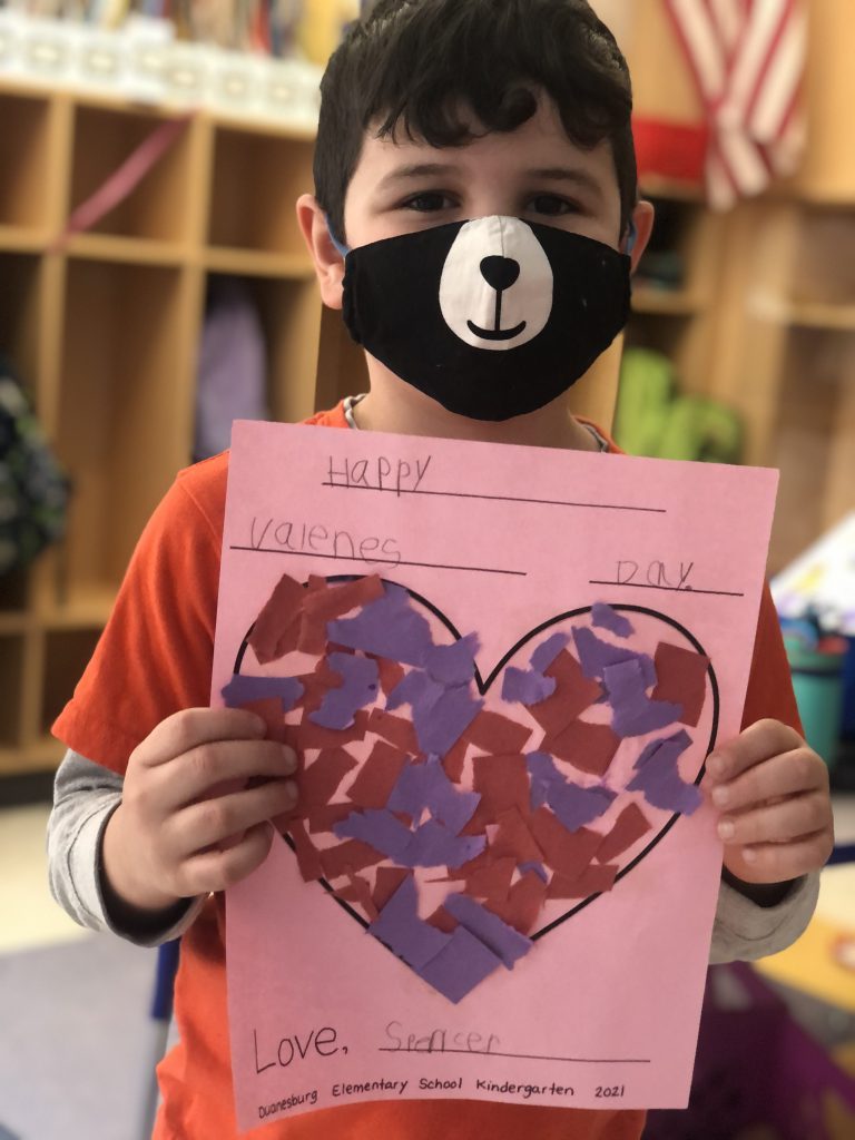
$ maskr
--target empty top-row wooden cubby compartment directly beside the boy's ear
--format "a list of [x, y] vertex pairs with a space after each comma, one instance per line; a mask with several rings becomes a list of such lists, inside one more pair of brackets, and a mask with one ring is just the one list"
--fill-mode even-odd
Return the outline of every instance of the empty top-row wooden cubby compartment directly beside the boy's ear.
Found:
[[312, 187], [312, 140], [218, 127], [213, 146], [209, 245], [304, 254], [294, 203]]

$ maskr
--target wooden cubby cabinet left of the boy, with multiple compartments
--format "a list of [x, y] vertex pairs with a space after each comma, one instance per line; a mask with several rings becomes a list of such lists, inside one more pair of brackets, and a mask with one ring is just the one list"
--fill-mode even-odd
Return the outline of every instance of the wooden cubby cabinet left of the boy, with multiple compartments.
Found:
[[0, 578], [2, 774], [60, 755], [50, 723], [146, 519], [190, 462], [209, 278], [250, 283], [282, 420], [320, 399], [320, 303], [293, 209], [312, 185], [306, 130], [199, 114], [132, 194], [51, 252], [71, 210], [169, 115], [7, 87], [0, 116], [0, 349], [73, 487], [66, 539]]

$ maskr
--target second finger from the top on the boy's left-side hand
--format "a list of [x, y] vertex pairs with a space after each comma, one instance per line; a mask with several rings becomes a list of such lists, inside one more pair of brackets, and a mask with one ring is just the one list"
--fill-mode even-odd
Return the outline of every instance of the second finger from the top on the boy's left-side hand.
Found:
[[161, 767], [158, 776], [164, 781], [169, 803], [177, 808], [210, 796], [220, 784], [253, 777], [280, 779], [295, 769], [296, 755], [287, 744], [275, 740], [218, 740], [176, 757], [169, 767]]

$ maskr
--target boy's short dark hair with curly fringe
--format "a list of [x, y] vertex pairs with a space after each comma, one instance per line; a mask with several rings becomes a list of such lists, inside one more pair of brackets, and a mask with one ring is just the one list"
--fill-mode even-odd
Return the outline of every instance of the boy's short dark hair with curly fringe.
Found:
[[608, 139], [626, 230], [638, 194], [624, 56], [587, 0], [378, 0], [351, 24], [321, 81], [315, 193], [344, 241], [344, 198], [365, 132], [400, 124], [430, 146], [465, 146], [470, 107], [488, 131], [514, 131], [556, 105], [580, 147]]

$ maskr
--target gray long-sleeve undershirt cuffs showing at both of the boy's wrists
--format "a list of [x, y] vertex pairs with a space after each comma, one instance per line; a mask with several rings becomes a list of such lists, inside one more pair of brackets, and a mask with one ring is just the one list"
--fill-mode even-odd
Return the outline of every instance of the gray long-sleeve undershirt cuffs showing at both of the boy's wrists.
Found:
[[[66, 752], [54, 789], [48, 823], [48, 863], [54, 898], [82, 927], [109, 930], [137, 946], [158, 946], [178, 938], [193, 923], [204, 897], [189, 899], [169, 927], [138, 931], [121, 929], [111, 918], [101, 883], [104, 829], [122, 799], [122, 776]], [[819, 873], [796, 880], [775, 906], [758, 906], [722, 883], [712, 928], [710, 962], [756, 960], [789, 946], [811, 920], [820, 889]]]

